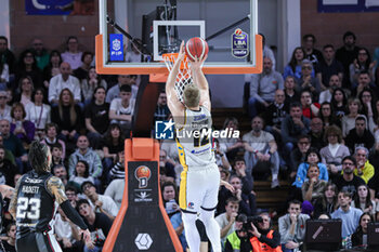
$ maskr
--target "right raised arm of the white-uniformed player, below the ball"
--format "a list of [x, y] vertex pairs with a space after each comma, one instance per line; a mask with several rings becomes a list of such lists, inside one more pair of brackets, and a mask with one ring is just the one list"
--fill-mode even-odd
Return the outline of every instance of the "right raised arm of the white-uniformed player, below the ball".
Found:
[[200, 90], [200, 106], [206, 107], [209, 111], [211, 109], [210, 97], [209, 97], [209, 85], [206, 76], [201, 70], [201, 65], [207, 59], [208, 55], [202, 58], [195, 58], [191, 62], [191, 71], [194, 78], [194, 83]]

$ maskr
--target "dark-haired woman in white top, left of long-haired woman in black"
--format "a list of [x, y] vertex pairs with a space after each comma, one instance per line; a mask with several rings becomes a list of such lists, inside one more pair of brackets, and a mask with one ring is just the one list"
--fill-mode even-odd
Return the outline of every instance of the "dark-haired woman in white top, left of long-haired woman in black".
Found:
[[38, 88], [31, 94], [31, 103], [26, 107], [26, 119], [35, 123], [36, 135], [42, 140], [44, 127], [51, 122], [50, 105], [43, 104], [43, 89]]

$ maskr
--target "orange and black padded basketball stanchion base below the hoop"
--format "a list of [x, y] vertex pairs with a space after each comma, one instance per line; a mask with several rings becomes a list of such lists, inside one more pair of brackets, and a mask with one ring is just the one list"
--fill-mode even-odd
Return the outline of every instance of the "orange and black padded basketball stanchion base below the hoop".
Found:
[[160, 197], [158, 141], [126, 140], [125, 162], [121, 208], [103, 251], [183, 251]]

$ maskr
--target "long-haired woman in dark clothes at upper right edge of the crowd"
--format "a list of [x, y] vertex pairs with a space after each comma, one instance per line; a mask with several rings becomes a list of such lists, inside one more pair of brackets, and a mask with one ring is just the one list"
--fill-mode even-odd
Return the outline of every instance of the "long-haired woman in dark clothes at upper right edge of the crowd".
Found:
[[350, 82], [352, 88], [357, 87], [358, 76], [361, 71], [367, 71], [371, 78], [371, 81], [375, 82], [375, 68], [376, 62], [371, 62], [371, 56], [369, 51], [365, 48], [361, 48], [354, 62], [350, 64]]

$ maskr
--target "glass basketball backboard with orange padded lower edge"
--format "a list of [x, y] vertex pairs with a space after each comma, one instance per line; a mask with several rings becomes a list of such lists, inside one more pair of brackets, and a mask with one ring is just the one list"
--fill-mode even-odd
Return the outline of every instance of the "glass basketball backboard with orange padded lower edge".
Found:
[[99, 4], [100, 74], [167, 74], [161, 55], [178, 52], [181, 41], [193, 37], [209, 45], [205, 74], [262, 70], [258, 0], [126, 0], [125, 21], [109, 18], [115, 13], [108, 12], [106, 0]]

